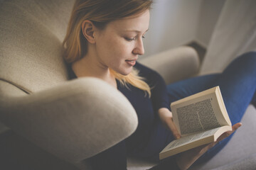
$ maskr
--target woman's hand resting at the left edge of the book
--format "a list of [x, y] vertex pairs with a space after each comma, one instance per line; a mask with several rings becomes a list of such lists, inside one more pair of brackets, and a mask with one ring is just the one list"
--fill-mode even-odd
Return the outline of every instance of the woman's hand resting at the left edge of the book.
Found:
[[172, 113], [168, 108], [159, 109], [159, 118], [161, 119], [162, 123], [164, 123], [166, 128], [171, 130], [175, 139], [181, 138], [181, 134], [178, 132], [176, 125], [174, 124]]

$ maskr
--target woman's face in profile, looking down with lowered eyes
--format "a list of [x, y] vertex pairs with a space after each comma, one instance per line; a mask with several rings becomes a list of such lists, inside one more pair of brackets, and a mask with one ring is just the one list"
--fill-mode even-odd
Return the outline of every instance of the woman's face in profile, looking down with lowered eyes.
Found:
[[129, 74], [138, 55], [144, 55], [142, 39], [148, 28], [149, 10], [112, 21], [104, 30], [96, 30], [94, 36], [97, 59], [119, 74]]

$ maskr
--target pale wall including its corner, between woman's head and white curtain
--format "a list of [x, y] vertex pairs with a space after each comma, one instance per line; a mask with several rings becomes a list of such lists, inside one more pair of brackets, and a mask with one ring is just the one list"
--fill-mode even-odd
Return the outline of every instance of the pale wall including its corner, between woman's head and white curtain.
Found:
[[208, 46], [225, 0], [154, 0], [145, 55], [196, 41]]

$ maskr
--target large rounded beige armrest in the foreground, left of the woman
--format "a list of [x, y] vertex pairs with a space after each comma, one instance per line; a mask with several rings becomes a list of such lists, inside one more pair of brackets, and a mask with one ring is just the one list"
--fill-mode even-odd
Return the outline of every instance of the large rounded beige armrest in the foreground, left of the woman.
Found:
[[138, 123], [127, 98], [96, 78], [75, 79], [0, 102], [2, 123], [71, 163], [124, 140]]

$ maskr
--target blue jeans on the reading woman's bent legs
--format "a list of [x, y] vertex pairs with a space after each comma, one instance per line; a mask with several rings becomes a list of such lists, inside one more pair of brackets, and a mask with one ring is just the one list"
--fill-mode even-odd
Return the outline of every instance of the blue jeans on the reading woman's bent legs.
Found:
[[[177, 73], [178, 74], [178, 73]], [[210, 74], [178, 81], [167, 86], [171, 102], [200, 91], [220, 86], [223, 101], [231, 123], [239, 123], [250, 103], [256, 103], [256, 52], [247, 52], [236, 58], [220, 74]], [[232, 135], [218, 142], [204, 154], [198, 162], [205, 162], [222, 149]]]

